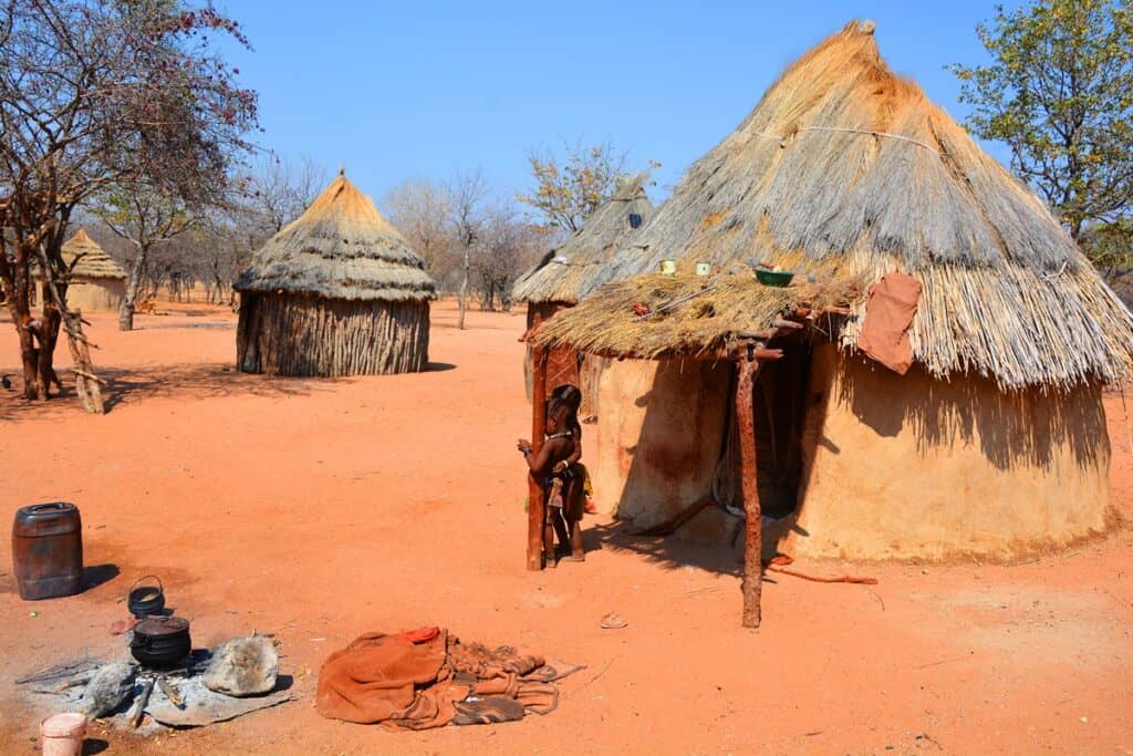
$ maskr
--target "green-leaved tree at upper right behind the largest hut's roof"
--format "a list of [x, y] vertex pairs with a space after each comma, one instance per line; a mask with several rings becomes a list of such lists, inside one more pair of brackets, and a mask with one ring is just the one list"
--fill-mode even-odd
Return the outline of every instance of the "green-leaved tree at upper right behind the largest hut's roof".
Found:
[[977, 26], [988, 66], [956, 65], [969, 128], [1071, 236], [1133, 211], [1133, 0], [1036, 0]]

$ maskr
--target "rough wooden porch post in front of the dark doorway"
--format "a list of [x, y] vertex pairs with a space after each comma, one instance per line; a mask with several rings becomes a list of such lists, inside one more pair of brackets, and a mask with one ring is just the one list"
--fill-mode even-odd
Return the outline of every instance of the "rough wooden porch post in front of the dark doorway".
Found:
[[735, 363], [735, 421], [740, 432], [740, 482], [747, 523], [743, 538], [743, 627], [757, 628], [763, 595], [763, 527], [756, 460], [756, 418], [751, 407], [752, 388], [759, 363], [755, 355]]

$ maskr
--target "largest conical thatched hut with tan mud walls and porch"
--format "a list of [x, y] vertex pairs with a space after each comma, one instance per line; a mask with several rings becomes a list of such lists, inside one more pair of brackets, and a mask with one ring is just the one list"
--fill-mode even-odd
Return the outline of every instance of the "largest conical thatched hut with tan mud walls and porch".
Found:
[[[667, 258], [676, 275], [647, 273]], [[723, 272], [696, 278], [697, 261]], [[795, 281], [763, 286], [751, 261]], [[600, 275], [636, 278], [534, 342], [653, 358], [604, 376], [591, 467], [638, 527], [736, 543], [724, 507], [690, 504], [756, 499], [738, 494], [742, 428], [756, 503], [782, 518], [769, 550], [1006, 559], [1107, 526], [1101, 387], [1131, 374], [1133, 316], [1047, 207], [889, 70], [872, 25], [791, 66]], [[919, 288], [911, 324], [881, 306], [896, 283]], [[866, 357], [871, 322], [906, 371]], [[740, 387], [758, 366], [734, 402], [733, 364]]]

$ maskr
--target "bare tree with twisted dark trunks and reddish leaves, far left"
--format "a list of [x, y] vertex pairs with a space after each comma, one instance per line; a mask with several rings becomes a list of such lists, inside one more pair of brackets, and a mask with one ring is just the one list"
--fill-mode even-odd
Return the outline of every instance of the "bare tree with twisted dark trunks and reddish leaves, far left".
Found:
[[[150, 181], [196, 196], [222, 182], [256, 122], [256, 95], [208, 46], [246, 44], [211, 7], [165, 0], [7, 0], [0, 6], [0, 284], [19, 337], [24, 396], [46, 399], [60, 325], [84, 407], [102, 411], [82, 318], [67, 308], [63, 236], [75, 209]], [[32, 317], [32, 266], [43, 277]]]

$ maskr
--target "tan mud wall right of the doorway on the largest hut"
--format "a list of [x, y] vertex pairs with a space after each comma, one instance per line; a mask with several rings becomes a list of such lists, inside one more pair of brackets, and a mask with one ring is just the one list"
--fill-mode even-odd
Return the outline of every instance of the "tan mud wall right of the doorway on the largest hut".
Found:
[[780, 547], [847, 559], [1010, 559], [1105, 529], [1100, 387], [1006, 394], [815, 352], [801, 507]]

